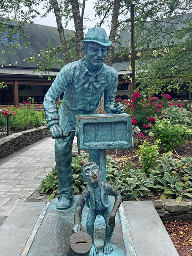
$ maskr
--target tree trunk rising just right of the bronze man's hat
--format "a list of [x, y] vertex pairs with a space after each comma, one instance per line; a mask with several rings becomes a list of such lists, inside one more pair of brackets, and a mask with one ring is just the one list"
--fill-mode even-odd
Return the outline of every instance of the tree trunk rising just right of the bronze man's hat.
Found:
[[120, 10], [121, 1], [120, 0], [114, 0], [113, 4], [113, 14], [111, 19], [111, 31], [109, 35], [109, 40], [112, 42], [111, 46], [109, 47], [108, 55], [105, 59], [105, 64], [108, 66], [112, 66], [113, 63], [113, 57], [114, 57], [114, 43], [116, 38], [116, 30], [117, 30], [117, 22], [119, 17], [119, 10]]

